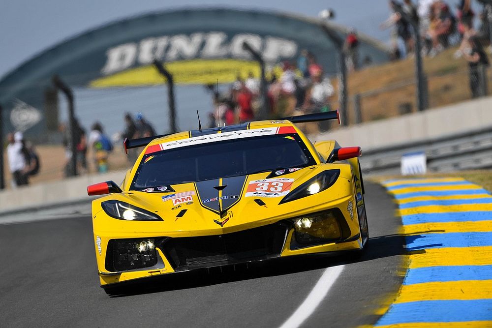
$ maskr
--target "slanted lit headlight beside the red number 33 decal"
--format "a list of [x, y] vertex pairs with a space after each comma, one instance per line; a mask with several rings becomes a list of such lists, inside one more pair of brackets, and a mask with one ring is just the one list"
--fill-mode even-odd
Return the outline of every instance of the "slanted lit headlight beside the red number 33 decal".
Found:
[[278, 204], [287, 203], [307, 197], [309, 195], [317, 194], [323, 190], [330, 188], [338, 179], [340, 170], [326, 170], [301, 184], [296, 189], [288, 193]]

